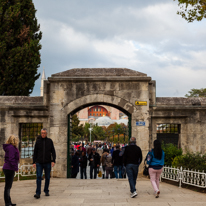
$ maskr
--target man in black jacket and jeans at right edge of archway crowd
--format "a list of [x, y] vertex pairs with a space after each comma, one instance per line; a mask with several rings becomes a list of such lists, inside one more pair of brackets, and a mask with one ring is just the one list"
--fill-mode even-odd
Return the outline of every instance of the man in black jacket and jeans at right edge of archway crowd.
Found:
[[112, 154], [112, 164], [114, 166], [114, 174], [115, 177], [118, 179], [118, 173], [119, 178], [122, 178], [122, 165], [123, 165], [123, 158], [119, 155], [120, 148], [119, 145], [116, 146], [116, 150]]

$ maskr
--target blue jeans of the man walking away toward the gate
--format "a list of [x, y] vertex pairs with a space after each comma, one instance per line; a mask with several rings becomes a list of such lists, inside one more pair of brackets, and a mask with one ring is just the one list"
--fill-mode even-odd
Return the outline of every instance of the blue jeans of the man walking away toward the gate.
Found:
[[127, 164], [126, 165], [126, 172], [129, 180], [130, 185], [130, 192], [133, 193], [136, 191], [136, 181], [138, 175], [139, 165], [135, 164]]

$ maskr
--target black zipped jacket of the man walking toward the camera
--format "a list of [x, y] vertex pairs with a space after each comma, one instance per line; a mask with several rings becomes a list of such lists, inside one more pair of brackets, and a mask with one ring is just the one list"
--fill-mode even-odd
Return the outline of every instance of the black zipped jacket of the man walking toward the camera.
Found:
[[37, 139], [34, 147], [33, 164], [50, 163], [55, 162], [55, 160], [56, 152], [53, 141], [48, 137]]

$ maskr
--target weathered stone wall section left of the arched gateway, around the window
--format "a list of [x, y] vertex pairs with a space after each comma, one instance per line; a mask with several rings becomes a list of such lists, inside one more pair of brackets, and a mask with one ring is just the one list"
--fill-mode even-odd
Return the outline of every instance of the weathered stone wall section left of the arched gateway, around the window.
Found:
[[[4, 158], [2, 144], [6, 139], [11, 134], [19, 136], [20, 123], [37, 122], [49, 126], [48, 109], [43, 106], [43, 97], [0, 96], [0, 165]], [[24, 161], [31, 162], [31, 159]]]

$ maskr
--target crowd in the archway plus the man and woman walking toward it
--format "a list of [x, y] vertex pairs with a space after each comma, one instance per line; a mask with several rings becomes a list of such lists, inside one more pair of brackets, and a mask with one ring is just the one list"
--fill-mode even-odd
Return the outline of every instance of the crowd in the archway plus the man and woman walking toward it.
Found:
[[[148, 152], [145, 161], [149, 165], [150, 181], [156, 198], [160, 195], [159, 178], [164, 158], [161, 143], [155, 140], [154, 148]], [[90, 179], [96, 179], [97, 174], [102, 179], [126, 178], [127, 174], [131, 197], [134, 198], [137, 196], [136, 181], [142, 159], [142, 151], [136, 145], [135, 137], [130, 139], [129, 145], [75, 143], [72, 145], [72, 178], [77, 177], [80, 168], [81, 179], [87, 179], [87, 165], [90, 167]]]

